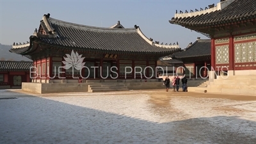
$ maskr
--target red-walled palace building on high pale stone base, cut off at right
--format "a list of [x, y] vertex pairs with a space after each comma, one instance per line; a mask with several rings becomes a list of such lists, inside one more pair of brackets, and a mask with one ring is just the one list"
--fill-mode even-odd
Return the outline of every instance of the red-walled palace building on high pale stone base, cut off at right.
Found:
[[211, 38], [207, 91], [256, 94], [255, 0], [221, 0], [190, 13], [176, 10], [169, 22]]

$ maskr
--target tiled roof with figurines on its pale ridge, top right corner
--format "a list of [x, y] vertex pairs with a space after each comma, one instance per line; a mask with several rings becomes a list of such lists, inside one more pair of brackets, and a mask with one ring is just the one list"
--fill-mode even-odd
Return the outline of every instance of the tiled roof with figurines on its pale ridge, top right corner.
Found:
[[[222, 4], [222, 5], [221, 5]], [[227, 6], [223, 9], [221, 7]], [[214, 26], [256, 18], [255, 0], [227, 0], [216, 7], [193, 13], [178, 13], [171, 24], [181, 26]]]

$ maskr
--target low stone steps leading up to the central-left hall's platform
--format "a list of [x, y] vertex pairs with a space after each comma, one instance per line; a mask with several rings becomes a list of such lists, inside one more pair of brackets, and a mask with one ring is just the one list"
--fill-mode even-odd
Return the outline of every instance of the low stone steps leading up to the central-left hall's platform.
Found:
[[129, 90], [125, 84], [90, 84], [88, 92], [114, 92]]

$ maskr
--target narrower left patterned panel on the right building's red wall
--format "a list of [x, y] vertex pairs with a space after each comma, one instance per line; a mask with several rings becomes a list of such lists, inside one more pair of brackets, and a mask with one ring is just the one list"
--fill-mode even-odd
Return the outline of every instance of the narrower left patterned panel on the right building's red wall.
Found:
[[228, 45], [216, 46], [216, 64], [229, 63]]

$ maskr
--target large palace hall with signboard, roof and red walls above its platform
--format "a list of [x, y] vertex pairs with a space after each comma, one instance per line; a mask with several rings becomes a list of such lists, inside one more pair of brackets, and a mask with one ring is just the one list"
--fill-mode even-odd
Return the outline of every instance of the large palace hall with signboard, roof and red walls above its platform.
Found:
[[[124, 28], [118, 21], [111, 28], [84, 26], [53, 19], [49, 13], [40, 20], [28, 42], [13, 43], [10, 49], [33, 60], [36, 83], [74, 77], [141, 79], [136, 73], [140, 68], [135, 67], [142, 68], [142, 79], [156, 78], [157, 60], [177, 51], [178, 44], [153, 42], [136, 25]], [[125, 74], [125, 70], [129, 72]]]

